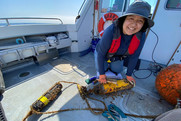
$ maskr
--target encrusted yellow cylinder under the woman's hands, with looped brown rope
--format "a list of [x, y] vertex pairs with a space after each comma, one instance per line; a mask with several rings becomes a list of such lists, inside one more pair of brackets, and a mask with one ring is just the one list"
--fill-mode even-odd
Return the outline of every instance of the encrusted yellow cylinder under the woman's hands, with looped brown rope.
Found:
[[[89, 88], [89, 87], [85, 87], [85, 86], [81, 86], [81, 85], [77, 84], [77, 88], [79, 90], [80, 96], [82, 97], [83, 100], [86, 101], [90, 111], [96, 115], [102, 114], [103, 112], [105, 112], [107, 110], [106, 104], [101, 100], [90, 97], [89, 95], [91, 95], [91, 94], [104, 95], [104, 94], [108, 94], [108, 93], [112, 93], [112, 92], [130, 89], [134, 86], [126, 79], [123, 79], [123, 80], [107, 79], [107, 80], [108, 81], [106, 84], [100, 84], [100, 83], [98, 83], [98, 80], [93, 81], [93, 88]], [[93, 110], [91, 108], [87, 98], [89, 98], [91, 100], [99, 101], [100, 103], [102, 103], [104, 105], [105, 108], [100, 111]]]

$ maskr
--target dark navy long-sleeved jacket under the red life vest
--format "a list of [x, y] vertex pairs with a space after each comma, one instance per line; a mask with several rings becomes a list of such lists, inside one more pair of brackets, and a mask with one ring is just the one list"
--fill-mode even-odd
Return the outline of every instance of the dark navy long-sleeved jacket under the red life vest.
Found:
[[[107, 61], [107, 54], [111, 47], [113, 38], [115, 37], [115, 30], [117, 31], [119, 27], [115, 22], [110, 25], [105, 31], [101, 38], [101, 40], [98, 42], [96, 46], [97, 51], [97, 62], [98, 62], [98, 72], [100, 75], [105, 74], [105, 68], [104, 68], [104, 62]], [[134, 35], [124, 35], [123, 32], [120, 31], [121, 34], [121, 44], [117, 50], [117, 52], [114, 54], [115, 56], [121, 56], [125, 55], [125, 53], [128, 50], [129, 44], [131, 42], [131, 39]], [[139, 55], [141, 53], [141, 50], [143, 48], [145, 42], [145, 33], [142, 33], [142, 37], [140, 40], [140, 44], [138, 49], [134, 52], [132, 55], [128, 55], [128, 68], [126, 75], [131, 76], [133, 73], [133, 70], [137, 64]]]

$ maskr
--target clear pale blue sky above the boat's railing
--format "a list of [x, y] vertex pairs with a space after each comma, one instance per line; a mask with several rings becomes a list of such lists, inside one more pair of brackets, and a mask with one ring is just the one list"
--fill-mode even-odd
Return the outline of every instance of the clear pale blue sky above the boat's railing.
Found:
[[[0, 0], [0, 18], [53, 17], [65, 24], [75, 23], [84, 0]], [[133, 0], [131, 0], [133, 1]], [[154, 5], [156, 0], [146, 0]]]

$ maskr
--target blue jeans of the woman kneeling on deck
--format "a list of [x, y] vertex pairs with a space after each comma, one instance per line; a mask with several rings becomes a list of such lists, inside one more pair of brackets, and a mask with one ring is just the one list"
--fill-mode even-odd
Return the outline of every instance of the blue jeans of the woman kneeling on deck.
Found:
[[[98, 72], [98, 62], [97, 62], [97, 51], [96, 50], [94, 51], [94, 59], [95, 59], [96, 71]], [[105, 71], [108, 68], [107, 61], [104, 62], [104, 68], [105, 68]], [[116, 73], [122, 72], [123, 71], [123, 60], [122, 61], [117, 60], [117, 61], [111, 62], [110, 68], [112, 71], [114, 71]]]

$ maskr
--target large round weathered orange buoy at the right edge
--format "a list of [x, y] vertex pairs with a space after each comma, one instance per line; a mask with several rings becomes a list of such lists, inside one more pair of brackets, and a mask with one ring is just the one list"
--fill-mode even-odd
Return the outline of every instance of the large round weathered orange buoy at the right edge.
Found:
[[181, 64], [173, 64], [161, 70], [155, 86], [166, 101], [176, 105], [177, 99], [181, 99]]

